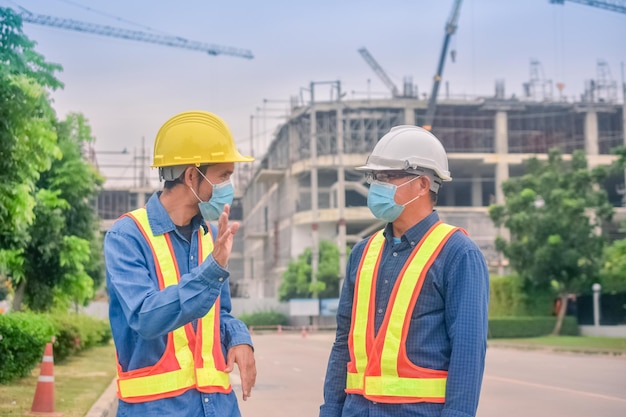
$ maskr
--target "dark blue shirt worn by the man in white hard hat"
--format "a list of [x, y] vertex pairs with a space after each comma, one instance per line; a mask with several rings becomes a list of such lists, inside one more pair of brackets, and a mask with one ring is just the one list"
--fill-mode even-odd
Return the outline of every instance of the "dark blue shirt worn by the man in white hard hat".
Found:
[[[424, 234], [439, 220], [433, 211], [394, 244], [391, 224], [385, 229], [385, 247], [376, 280], [374, 329], [378, 333], [396, 278]], [[411, 313], [407, 354], [412, 363], [448, 371], [445, 404], [382, 404], [356, 394], [346, 395], [350, 361], [348, 333], [354, 283], [367, 240], [357, 243], [348, 261], [337, 311], [321, 417], [468, 417], [475, 416], [487, 348], [489, 275], [476, 244], [455, 232], [429, 269]]]

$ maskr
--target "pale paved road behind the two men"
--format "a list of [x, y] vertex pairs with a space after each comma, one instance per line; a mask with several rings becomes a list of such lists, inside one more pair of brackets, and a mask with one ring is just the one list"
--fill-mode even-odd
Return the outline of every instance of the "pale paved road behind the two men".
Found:
[[[317, 416], [333, 337], [253, 335], [258, 378], [243, 416]], [[626, 416], [626, 359], [489, 348], [478, 417], [529, 416]]]

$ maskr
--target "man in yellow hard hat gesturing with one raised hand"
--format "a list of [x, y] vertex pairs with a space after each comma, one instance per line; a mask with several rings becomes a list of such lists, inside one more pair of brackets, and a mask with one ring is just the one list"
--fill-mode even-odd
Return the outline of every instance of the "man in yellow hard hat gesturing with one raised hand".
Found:
[[183, 112], [159, 130], [153, 167], [163, 190], [104, 242], [118, 416], [239, 416], [235, 364], [250, 396], [252, 340], [230, 314], [226, 268], [239, 228], [228, 221], [230, 177], [236, 162], [251, 161], [215, 114]]

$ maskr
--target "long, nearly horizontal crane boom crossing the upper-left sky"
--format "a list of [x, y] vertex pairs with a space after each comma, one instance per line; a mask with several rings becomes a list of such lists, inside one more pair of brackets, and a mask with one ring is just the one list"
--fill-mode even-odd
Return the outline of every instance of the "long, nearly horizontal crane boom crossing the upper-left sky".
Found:
[[193, 51], [206, 52], [209, 55], [231, 55], [247, 59], [252, 59], [254, 57], [252, 55], [252, 52], [247, 49], [206, 44], [202, 42], [191, 41], [185, 38], [181, 38], [179, 36], [156, 35], [137, 30], [121, 29], [113, 26], [99, 25], [95, 23], [81, 22], [78, 20], [41, 15], [31, 13], [26, 10], [15, 11], [15, 13], [20, 16], [24, 22], [34, 23], [36, 25], [52, 26], [61, 29], [93, 33], [96, 35], [110, 36], [114, 38], [167, 45], [174, 48], [184, 48]]

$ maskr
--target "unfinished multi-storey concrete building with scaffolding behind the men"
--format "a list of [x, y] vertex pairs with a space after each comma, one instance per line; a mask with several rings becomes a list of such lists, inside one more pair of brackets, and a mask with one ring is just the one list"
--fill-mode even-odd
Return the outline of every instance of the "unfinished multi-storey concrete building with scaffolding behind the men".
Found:
[[[383, 226], [367, 208], [367, 183], [354, 167], [365, 162], [392, 126], [423, 125], [428, 102], [411, 96], [345, 100], [339, 82], [336, 88], [339, 99], [315, 100], [311, 83], [311, 100], [293, 104], [265, 156], [238, 172], [248, 177], [238, 234], [243, 254], [239, 296], [276, 297], [287, 264], [307, 247], [315, 271], [321, 240], [339, 245], [343, 274], [342, 248]], [[442, 99], [432, 131], [448, 153], [453, 178], [439, 194], [442, 220], [465, 228], [496, 270], [502, 261], [488, 206], [504, 203], [503, 181], [521, 175], [525, 160], [545, 157], [553, 147], [566, 157], [584, 150], [591, 167], [608, 165], [615, 159], [611, 150], [625, 143], [625, 121], [623, 104], [593, 96], [575, 103], [499, 94]], [[624, 206], [623, 183], [616, 178], [606, 185], [616, 207]]]

